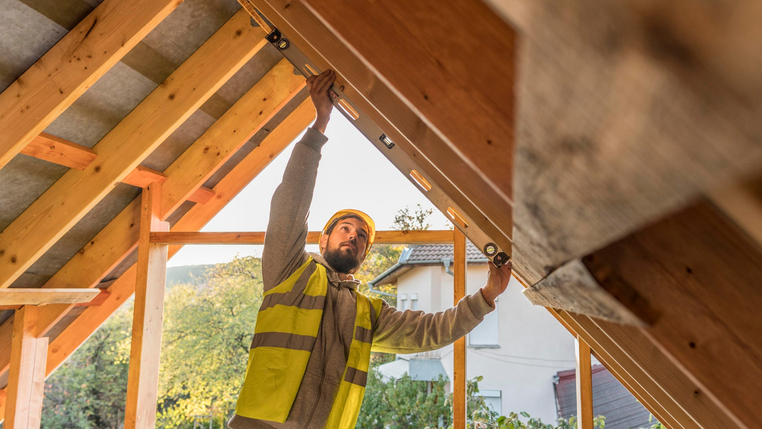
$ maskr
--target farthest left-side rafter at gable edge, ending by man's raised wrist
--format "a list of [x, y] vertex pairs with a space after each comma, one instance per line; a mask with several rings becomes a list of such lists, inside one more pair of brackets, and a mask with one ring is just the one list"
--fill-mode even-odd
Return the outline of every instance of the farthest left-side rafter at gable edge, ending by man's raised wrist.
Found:
[[[303, 101], [282, 123], [280, 123], [251, 153], [245, 156], [232, 171], [214, 187], [216, 198], [207, 204], [191, 207], [174, 229], [201, 229], [219, 210], [222, 210], [235, 195], [246, 187], [296, 136], [299, 136], [315, 119], [315, 109], [309, 98]], [[163, 185], [162, 187], [165, 187]], [[182, 246], [170, 246], [169, 257]], [[53, 372], [67, 357], [79, 347], [108, 317], [129, 299], [135, 291], [136, 266], [130, 267], [108, 288], [111, 295], [101, 306], [88, 307], [50, 344], [46, 374]], [[0, 343], [2, 345], [2, 343]], [[2, 356], [2, 354], [0, 354]]]

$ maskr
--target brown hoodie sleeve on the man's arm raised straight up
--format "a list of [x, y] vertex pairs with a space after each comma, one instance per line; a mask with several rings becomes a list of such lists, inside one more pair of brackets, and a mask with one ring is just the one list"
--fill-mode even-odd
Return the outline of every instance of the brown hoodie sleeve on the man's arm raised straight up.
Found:
[[262, 250], [262, 284], [271, 290], [307, 261], [307, 216], [318, 175], [320, 150], [328, 137], [308, 128], [293, 148], [270, 206]]

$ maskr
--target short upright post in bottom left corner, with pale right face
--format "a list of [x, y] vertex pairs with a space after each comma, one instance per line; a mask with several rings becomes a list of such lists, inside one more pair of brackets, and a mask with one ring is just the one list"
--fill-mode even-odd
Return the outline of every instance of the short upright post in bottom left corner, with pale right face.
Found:
[[5, 429], [39, 429], [45, 384], [47, 338], [37, 339], [37, 306], [16, 310]]

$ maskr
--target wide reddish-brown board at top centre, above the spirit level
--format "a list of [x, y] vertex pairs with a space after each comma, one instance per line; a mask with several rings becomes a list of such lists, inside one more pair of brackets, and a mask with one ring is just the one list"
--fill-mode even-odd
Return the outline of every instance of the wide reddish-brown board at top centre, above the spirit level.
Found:
[[[512, 199], [516, 37], [505, 21], [479, 0], [393, 0], [363, 8], [351, 0], [302, 3], [496, 194]], [[464, 20], [479, 25], [461, 25]], [[478, 50], [472, 40], [480, 41]]]

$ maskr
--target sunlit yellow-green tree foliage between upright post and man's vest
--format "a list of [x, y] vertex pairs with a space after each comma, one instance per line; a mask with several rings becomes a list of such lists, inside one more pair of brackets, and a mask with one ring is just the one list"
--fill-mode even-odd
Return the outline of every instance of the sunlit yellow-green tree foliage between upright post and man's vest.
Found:
[[167, 298], [158, 424], [184, 427], [193, 415], [229, 415], [248, 361], [262, 303], [258, 258], [207, 271], [206, 287], [177, 285]]

